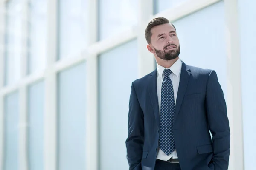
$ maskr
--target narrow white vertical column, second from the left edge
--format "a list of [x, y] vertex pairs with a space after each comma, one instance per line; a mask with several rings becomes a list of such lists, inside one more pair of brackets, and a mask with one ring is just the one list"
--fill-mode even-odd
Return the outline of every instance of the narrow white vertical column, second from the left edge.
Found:
[[[27, 69], [27, 37], [28, 37], [28, 0], [23, 0], [22, 4], [22, 52], [20, 59], [21, 79], [26, 76]], [[18, 162], [20, 170], [27, 170], [27, 90], [26, 85], [19, 89], [19, 136], [18, 136]]]

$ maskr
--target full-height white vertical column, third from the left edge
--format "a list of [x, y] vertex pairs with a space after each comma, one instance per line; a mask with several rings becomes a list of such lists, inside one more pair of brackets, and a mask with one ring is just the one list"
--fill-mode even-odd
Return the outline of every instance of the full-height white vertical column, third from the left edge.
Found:
[[44, 170], [57, 170], [57, 2], [47, 0], [47, 65], [45, 74]]

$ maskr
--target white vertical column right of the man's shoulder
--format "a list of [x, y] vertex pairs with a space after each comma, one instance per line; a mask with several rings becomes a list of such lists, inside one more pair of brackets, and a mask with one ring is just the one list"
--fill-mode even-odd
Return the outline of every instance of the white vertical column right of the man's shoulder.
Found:
[[230, 120], [230, 170], [244, 170], [241, 56], [237, 0], [225, 0], [227, 38], [227, 113]]

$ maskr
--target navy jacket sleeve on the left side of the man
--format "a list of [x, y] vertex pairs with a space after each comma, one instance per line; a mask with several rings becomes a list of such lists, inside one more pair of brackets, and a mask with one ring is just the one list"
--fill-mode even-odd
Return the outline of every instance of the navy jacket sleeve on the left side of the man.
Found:
[[141, 170], [141, 156], [144, 143], [144, 115], [131, 85], [131, 96], [128, 113], [128, 138], [126, 139], [129, 170]]

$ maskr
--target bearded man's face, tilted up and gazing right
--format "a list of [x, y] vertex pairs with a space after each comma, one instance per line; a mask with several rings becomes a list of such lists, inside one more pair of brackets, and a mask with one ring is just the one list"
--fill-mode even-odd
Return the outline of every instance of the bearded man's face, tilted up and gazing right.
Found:
[[172, 24], [162, 24], [151, 29], [151, 44], [148, 50], [163, 60], [172, 60], [180, 55], [180, 42]]

